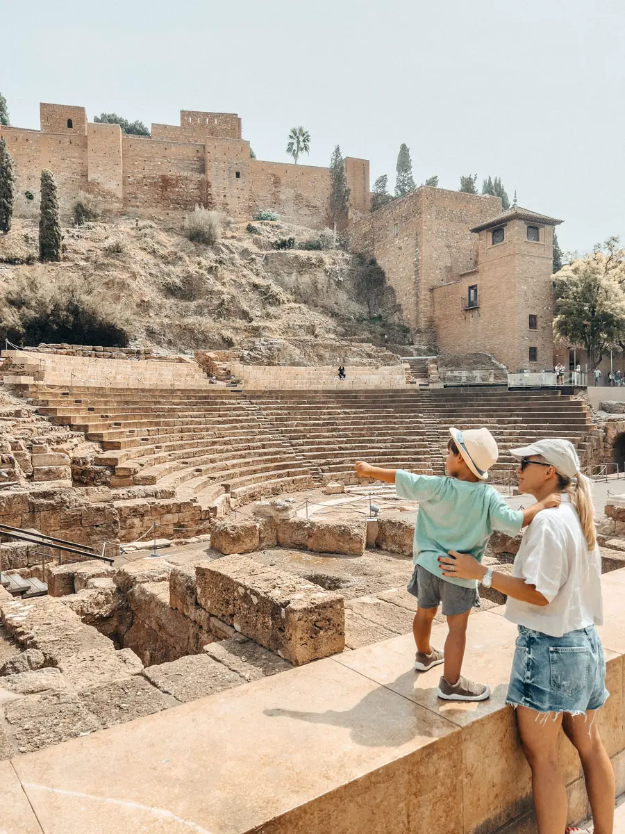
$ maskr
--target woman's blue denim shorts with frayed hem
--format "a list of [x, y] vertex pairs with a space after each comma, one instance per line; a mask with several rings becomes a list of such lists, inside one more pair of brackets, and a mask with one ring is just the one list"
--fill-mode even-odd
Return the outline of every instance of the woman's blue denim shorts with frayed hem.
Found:
[[518, 626], [506, 703], [537, 712], [598, 710], [607, 701], [606, 661], [594, 625], [552, 637]]

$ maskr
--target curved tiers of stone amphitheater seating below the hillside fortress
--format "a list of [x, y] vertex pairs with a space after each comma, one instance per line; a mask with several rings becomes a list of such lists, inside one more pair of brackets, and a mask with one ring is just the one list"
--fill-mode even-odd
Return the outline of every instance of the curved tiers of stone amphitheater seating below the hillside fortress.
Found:
[[448, 426], [487, 425], [500, 445], [493, 480], [515, 467], [508, 450], [549, 435], [583, 451], [590, 417], [557, 391], [463, 388], [419, 391], [237, 391], [98, 388], [43, 382], [24, 393], [42, 414], [102, 445], [96, 463], [112, 486], [170, 490], [208, 507], [329, 480], [356, 482], [353, 461], [443, 473]]

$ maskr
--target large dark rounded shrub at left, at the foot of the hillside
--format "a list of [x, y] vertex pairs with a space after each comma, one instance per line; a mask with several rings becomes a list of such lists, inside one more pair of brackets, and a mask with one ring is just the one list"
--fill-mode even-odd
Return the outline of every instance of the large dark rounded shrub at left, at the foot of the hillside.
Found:
[[24, 344], [128, 344], [119, 305], [73, 275], [54, 283], [44, 271], [19, 276], [2, 289], [0, 321], [0, 338]]

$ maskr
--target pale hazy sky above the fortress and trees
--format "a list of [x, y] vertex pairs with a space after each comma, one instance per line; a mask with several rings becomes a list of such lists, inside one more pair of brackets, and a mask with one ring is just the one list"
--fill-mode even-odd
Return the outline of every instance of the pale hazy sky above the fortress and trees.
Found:
[[562, 249], [625, 240], [622, 0], [30, 0], [2, 8], [11, 123], [39, 102], [149, 125], [236, 112], [259, 159], [368, 158], [371, 183], [407, 143], [416, 183], [498, 176], [562, 219]]

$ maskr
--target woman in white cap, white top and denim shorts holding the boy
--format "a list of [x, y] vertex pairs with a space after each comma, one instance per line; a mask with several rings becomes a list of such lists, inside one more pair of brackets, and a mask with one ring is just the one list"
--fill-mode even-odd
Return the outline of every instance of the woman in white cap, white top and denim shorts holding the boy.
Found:
[[566, 826], [560, 726], [582, 761], [594, 834], [612, 834], [614, 774], [595, 722], [608, 692], [595, 631], [602, 622], [601, 556], [590, 482], [568, 440], [539, 440], [512, 455], [521, 460], [519, 490], [536, 500], [559, 492], [560, 506], [529, 525], [512, 576], [487, 570], [466, 553], [451, 551], [441, 562], [447, 575], [482, 580], [506, 594], [506, 617], [518, 625], [507, 703], [516, 709], [532, 768], [538, 834], [562, 834]]

